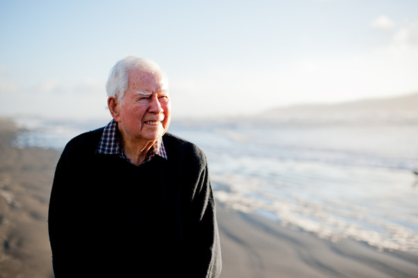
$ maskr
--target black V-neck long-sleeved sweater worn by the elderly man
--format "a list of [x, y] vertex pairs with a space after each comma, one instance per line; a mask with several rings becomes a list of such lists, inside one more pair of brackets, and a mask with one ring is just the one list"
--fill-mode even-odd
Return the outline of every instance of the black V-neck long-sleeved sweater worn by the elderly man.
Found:
[[221, 253], [206, 157], [163, 137], [168, 160], [139, 167], [95, 153], [103, 128], [72, 139], [49, 203], [54, 273], [61, 277], [217, 277]]

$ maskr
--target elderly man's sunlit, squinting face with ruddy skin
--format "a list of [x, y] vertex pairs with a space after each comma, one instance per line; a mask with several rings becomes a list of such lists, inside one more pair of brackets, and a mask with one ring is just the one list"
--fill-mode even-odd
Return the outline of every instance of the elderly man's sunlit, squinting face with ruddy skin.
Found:
[[132, 70], [129, 86], [117, 109], [118, 115], [114, 118], [124, 139], [160, 139], [171, 120], [167, 79], [160, 72]]

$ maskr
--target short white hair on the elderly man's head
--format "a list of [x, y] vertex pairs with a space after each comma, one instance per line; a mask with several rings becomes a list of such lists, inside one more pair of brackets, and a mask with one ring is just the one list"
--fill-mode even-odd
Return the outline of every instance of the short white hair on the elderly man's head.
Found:
[[147, 58], [138, 58], [135, 56], [127, 56], [125, 59], [116, 62], [109, 72], [109, 77], [106, 83], [106, 91], [108, 97], [118, 98], [122, 101], [125, 91], [129, 86], [129, 72], [131, 70], [141, 70], [147, 72], [160, 72], [162, 76], [167, 79], [165, 73], [160, 66], [154, 61]]

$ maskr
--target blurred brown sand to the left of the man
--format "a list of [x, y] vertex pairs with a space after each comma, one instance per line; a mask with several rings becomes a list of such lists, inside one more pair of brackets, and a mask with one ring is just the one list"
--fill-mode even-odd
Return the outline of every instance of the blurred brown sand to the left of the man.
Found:
[[47, 207], [59, 152], [11, 148], [16, 131], [0, 120], [0, 277], [54, 277]]

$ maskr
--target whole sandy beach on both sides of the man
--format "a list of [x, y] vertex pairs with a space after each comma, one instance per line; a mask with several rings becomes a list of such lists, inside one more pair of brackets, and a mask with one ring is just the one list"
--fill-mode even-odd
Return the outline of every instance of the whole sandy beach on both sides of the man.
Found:
[[[59, 151], [17, 148], [17, 127], [0, 120], [0, 277], [49, 278], [47, 210]], [[215, 198], [217, 192], [215, 192]], [[418, 254], [337, 242], [217, 201], [222, 278], [418, 277]]]

